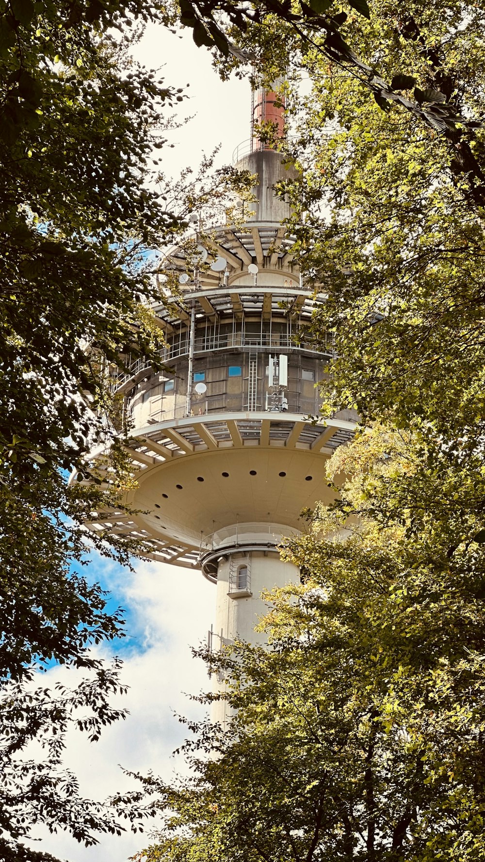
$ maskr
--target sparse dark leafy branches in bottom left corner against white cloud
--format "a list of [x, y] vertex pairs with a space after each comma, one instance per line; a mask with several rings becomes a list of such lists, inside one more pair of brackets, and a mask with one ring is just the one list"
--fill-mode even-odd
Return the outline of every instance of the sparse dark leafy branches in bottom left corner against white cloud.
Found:
[[[121, 825], [120, 817], [128, 818], [136, 828], [142, 814], [147, 813], [142, 809], [134, 812], [133, 803], [139, 794], [104, 804], [86, 800], [79, 794], [76, 777], [62, 765], [69, 728], [87, 733], [95, 742], [103, 727], [126, 715], [109, 703], [111, 695], [126, 690], [119, 682], [119, 663], [111, 668], [103, 667], [100, 661], [92, 665], [91, 677], [75, 690], [62, 684], [57, 684], [54, 691], [26, 684], [3, 685], [2, 859], [52, 859], [19, 843], [29, 837], [37, 823], [51, 832], [68, 829], [74, 838], [90, 846], [97, 843], [93, 832], [122, 834], [126, 827]], [[41, 758], [32, 757], [34, 743], [40, 746]]]

